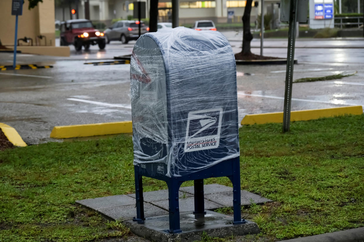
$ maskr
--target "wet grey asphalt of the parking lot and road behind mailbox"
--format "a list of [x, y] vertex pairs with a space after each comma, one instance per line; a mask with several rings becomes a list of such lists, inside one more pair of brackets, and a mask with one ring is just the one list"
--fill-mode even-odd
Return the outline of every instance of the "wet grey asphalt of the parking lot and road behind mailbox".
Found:
[[[223, 32], [234, 52], [241, 41]], [[364, 39], [297, 39], [294, 79], [357, 73], [340, 80], [293, 84], [292, 110], [364, 105]], [[130, 65], [85, 65], [130, 55], [135, 41], [112, 41], [104, 51], [74, 51], [70, 57], [17, 55], [17, 64], [53, 65], [50, 69], [0, 71], [0, 122], [13, 126], [27, 144], [48, 142], [54, 126], [131, 120]], [[252, 52], [259, 54], [259, 40]], [[286, 39], [266, 39], [264, 55], [286, 57]], [[0, 64], [12, 63], [0, 53]], [[282, 112], [285, 65], [237, 66], [240, 120], [251, 113]], [[206, 81], [209, 73], [206, 73]]]

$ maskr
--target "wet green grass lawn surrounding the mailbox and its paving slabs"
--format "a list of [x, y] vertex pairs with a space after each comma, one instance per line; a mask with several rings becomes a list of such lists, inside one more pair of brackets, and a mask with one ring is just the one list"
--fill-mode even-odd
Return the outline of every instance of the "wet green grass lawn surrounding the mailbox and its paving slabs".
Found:
[[[281, 129], [240, 128], [241, 188], [274, 201], [242, 207], [262, 230], [245, 239], [277, 241], [364, 226], [364, 115], [294, 122], [287, 134]], [[75, 205], [78, 199], [134, 193], [132, 157], [131, 137], [123, 135], [0, 152], [0, 241], [132, 237], [121, 223]], [[149, 178], [144, 183], [145, 191], [167, 188]], [[227, 178], [205, 183], [231, 186]]]

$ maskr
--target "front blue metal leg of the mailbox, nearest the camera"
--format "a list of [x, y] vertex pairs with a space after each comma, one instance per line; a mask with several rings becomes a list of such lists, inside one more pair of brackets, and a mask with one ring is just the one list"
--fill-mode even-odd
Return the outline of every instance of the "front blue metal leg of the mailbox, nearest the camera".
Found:
[[181, 233], [182, 230], [179, 226], [179, 202], [178, 202], [178, 190], [181, 185], [175, 179], [171, 179], [167, 182], [168, 185], [168, 200], [169, 200], [169, 233]]

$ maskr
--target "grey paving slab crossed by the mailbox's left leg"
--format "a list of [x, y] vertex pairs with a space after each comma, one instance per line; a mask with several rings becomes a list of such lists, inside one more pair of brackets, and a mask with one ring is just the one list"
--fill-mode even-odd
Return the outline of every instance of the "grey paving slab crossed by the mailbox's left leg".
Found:
[[[137, 216], [137, 209], [134, 205], [120, 206], [120, 207], [110, 207], [106, 209], [99, 209], [99, 213], [101, 213], [104, 217], [112, 220], [127, 220], [132, 219]], [[163, 210], [159, 207], [151, 205], [150, 203], [144, 203], [144, 215], [145, 217], [154, 217], [158, 215], [168, 214], [168, 211]]]

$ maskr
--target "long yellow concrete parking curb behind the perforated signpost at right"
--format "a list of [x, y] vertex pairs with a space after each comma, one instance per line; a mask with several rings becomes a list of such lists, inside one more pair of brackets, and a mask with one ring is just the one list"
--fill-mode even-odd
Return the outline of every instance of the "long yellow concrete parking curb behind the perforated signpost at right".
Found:
[[[291, 121], [304, 121], [317, 118], [328, 118], [335, 116], [343, 116], [345, 114], [361, 115], [363, 114], [362, 106], [348, 106], [341, 108], [325, 108], [312, 109], [291, 112]], [[283, 112], [278, 113], [262, 113], [248, 114], [241, 120], [241, 125], [249, 124], [267, 124], [267, 123], [282, 123]]]

